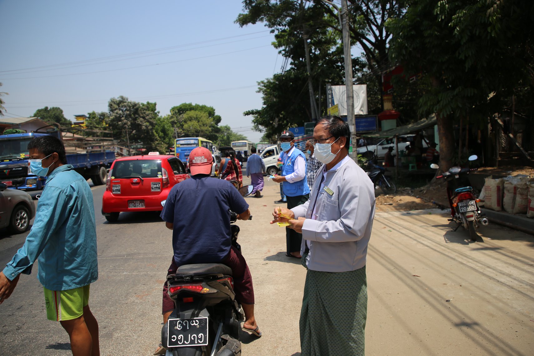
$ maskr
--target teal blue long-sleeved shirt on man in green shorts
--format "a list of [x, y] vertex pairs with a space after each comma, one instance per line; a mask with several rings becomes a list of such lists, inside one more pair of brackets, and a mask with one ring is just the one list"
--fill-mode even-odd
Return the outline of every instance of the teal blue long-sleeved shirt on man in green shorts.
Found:
[[50, 290], [83, 287], [98, 279], [93, 195], [70, 164], [46, 179], [32, 230], [3, 272], [10, 280], [30, 274], [37, 258], [37, 279]]

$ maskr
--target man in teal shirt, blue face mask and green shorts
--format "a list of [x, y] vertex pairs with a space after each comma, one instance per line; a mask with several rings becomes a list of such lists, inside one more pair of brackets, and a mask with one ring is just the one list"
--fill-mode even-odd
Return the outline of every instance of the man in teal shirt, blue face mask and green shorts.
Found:
[[20, 274], [39, 260], [46, 317], [70, 337], [75, 355], [99, 355], [98, 323], [89, 309], [89, 286], [98, 279], [93, 194], [87, 181], [67, 164], [65, 147], [52, 136], [28, 144], [30, 169], [46, 178], [32, 230], [0, 272], [0, 304], [9, 298]]

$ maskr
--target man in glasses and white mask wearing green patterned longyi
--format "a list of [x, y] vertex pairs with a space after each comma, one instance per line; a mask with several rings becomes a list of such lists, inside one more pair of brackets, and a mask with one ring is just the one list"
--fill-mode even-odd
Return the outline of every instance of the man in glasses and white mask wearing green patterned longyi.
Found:
[[324, 165], [310, 199], [290, 210], [275, 208], [271, 221], [288, 221], [302, 232], [302, 264], [308, 269], [300, 318], [303, 356], [365, 353], [365, 264], [375, 198], [371, 179], [348, 155], [349, 142], [341, 118], [319, 119], [312, 143]]

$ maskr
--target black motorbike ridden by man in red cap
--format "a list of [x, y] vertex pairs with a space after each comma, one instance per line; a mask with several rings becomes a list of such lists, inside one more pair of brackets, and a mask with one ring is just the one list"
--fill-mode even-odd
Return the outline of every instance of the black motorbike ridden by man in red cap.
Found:
[[[246, 185], [239, 193], [247, 196], [252, 190], [252, 185]], [[236, 220], [237, 213], [230, 211], [230, 222]], [[241, 250], [239, 226], [231, 225], [231, 230], [232, 245]], [[235, 300], [230, 267], [216, 263], [179, 266], [176, 274], [167, 276], [167, 283], [175, 307], [161, 329], [166, 356], [241, 355], [239, 331], [245, 313]]]

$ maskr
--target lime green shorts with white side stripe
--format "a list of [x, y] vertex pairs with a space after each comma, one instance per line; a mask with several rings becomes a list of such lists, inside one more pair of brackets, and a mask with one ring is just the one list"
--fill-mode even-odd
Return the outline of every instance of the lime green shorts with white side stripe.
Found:
[[67, 290], [44, 289], [46, 318], [48, 320], [72, 320], [83, 315], [83, 307], [89, 304], [89, 286]]

